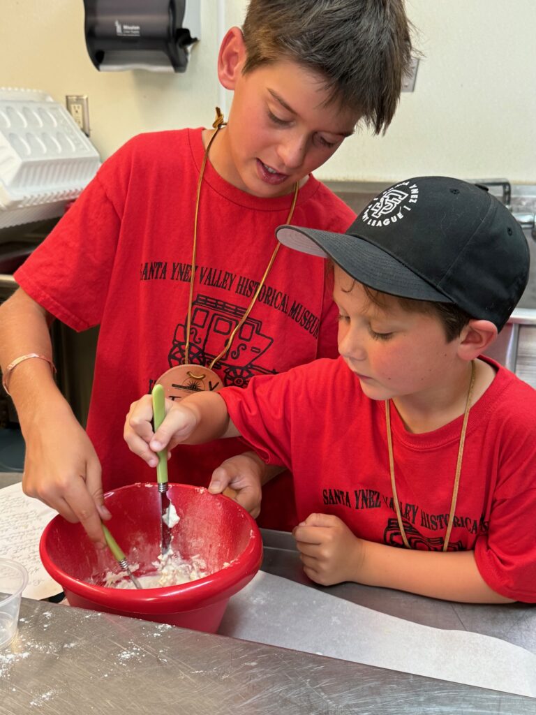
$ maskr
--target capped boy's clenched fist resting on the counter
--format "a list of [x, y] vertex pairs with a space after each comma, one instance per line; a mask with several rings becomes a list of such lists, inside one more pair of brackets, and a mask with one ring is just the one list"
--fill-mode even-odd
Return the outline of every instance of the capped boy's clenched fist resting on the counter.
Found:
[[304, 572], [322, 586], [357, 581], [364, 550], [338, 516], [310, 514], [292, 532]]

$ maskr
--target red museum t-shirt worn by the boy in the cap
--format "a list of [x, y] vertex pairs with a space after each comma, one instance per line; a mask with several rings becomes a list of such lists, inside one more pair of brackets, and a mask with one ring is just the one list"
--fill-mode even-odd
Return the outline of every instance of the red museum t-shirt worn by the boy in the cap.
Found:
[[[490, 360], [495, 379], [470, 410], [449, 551], [474, 549], [497, 593], [536, 601], [536, 390]], [[300, 521], [334, 514], [356, 536], [402, 546], [392, 502], [385, 403], [339, 360], [222, 391], [239, 432], [294, 475]], [[425, 434], [391, 410], [394, 472], [412, 548], [441, 551], [463, 418]]]

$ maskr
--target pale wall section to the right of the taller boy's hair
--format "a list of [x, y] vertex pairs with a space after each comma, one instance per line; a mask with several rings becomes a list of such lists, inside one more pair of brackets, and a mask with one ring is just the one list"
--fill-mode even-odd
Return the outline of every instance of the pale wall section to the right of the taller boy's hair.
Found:
[[384, 137], [352, 137], [332, 179], [420, 174], [536, 184], [534, 0], [410, 0], [425, 55]]

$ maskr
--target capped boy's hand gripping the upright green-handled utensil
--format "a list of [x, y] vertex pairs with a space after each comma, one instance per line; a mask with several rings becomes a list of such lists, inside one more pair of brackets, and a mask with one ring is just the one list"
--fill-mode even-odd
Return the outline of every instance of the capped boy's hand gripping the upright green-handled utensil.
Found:
[[149, 467], [158, 464], [157, 452], [186, 442], [198, 424], [198, 418], [193, 410], [181, 403], [166, 400], [166, 416], [162, 424], [153, 432], [152, 395], [144, 395], [130, 405], [124, 424], [123, 436], [129, 450], [147, 462]]

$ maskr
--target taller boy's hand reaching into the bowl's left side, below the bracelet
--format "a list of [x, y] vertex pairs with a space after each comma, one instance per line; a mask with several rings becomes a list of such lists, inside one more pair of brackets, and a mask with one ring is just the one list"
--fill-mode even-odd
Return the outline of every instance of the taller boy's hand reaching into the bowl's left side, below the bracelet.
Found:
[[[35, 417], [36, 415], [34, 415]], [[94, 447], [67, 405], [47, 411], [24, 430], [26, 455], [22, 488], [71, 523], [81, 522], [91, 541], [104, 548], [101, 465]]]

